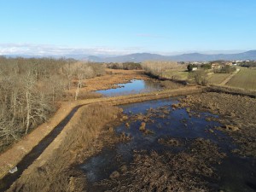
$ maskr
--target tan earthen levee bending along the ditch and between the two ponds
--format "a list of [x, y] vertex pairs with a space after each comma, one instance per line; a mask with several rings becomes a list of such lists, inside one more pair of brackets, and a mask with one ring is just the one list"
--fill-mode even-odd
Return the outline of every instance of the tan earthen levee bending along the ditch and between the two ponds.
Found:
[[[38, 145], [38, 143], [40, 143], [45, 137], [49, 137], [49, 135], [55, 130], [55, 127], [61, 125], [61, 122], [65, 118], [67, 118], [67, 116], [70, 113], [75, 113], [75, 111], [73, 111], [74, 108], [83, 105], [89, 105], [92, 103], [121, 105], [132, 102], [143, 102], [148, 100], [167, 98], [171, 96], [191, 95], [201, 93], [205, 90], [205, 88], [202, 88], [200, 86], [191, 86], [180, 88], [177, 90], [161, 90], [131, 96], [115, 96], [108, 98], [104, 97], [98, 99], [80, 100], [76, 102], [64, 102], [62, 103], [61, 108], [58, 109], [55, 115], [51, 119], [49, 119], [48, 122], [44, 123], [43, 125], [39, 125], [37, 129], [35, 129], [22, 140], [20, 140], [20, 142], [15, 143], [15, 145], [13, 145], [12, 148], [9, 148], [9, 150], [4, 152], [3, 154], [0, 154], [0, 178], [2, 179], [7, 174], [9, 174], [9, 170], [18, 165], [19, 162], [26, 157], [26, 155], [30, 154], [32, 149], [35, 148]], [[54, 137], [53, 139], [57, 139], [58, 134], [59, 132], [55, 132], [56, 138]], [[34, 158], [37, 159], [39, 155], [41, 155], [41, 153], [38, 155], [34, 155]], [[20, 167], [18, 167], [18, 170], [19, 168]]]

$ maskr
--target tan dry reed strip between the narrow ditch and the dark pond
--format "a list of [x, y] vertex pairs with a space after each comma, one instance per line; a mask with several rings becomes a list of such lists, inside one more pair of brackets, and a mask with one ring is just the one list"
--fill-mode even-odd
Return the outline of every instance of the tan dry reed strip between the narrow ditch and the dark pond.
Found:
[[102, 143], [96, 145], [96, 138], [120, 112], [119, 108], [99, 104], [80, 108], [60, 137], [8, 191], [83, 191], [83, 176], [71, 165], [102, 148]]

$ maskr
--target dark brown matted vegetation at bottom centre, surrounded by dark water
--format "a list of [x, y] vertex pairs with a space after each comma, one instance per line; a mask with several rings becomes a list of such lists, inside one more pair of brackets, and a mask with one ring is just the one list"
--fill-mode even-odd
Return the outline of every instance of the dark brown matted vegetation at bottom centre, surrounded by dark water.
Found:
[[207, 178], [218, 179], [212, 165], [218, 164], [224, 156], [215, 144], [202, 138], [191, 141], [191, 146], [178, 154], [139, 151], [134, 153], [131, 166], [122, 166], [119, 172], [113, 172], [95, 187], [137, 192], [213, 191]]

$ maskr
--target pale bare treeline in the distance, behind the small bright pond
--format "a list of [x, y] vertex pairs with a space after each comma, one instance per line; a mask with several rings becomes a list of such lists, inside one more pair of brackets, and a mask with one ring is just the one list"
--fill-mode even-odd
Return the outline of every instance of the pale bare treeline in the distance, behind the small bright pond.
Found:
[[142, 67], [148, 75], [162, 78], [166, 70], [174, 69], [178, 64], [175, 61], [144, 61]]

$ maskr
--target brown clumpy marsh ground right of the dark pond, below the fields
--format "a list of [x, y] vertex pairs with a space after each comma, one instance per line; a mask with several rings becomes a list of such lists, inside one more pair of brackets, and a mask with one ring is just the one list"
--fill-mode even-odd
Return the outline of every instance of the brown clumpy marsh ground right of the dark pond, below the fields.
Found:
[[238, 148], [234, 152], [256, 157], [256, 99], [248, 96], [234, 96], [224, 93], [207, 92], [187, 96], [182, 100], [183, 107], [218, 114], [226, 131], [234, 139]]

